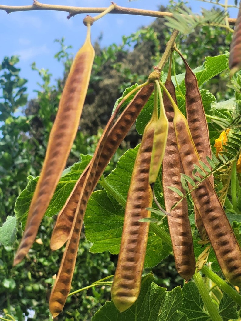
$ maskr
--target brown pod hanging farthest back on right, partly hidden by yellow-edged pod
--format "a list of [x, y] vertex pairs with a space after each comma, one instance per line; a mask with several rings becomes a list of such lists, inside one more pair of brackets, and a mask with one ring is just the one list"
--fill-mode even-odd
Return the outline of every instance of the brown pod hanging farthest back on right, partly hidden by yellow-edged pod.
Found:
[[[206, 156], [212, 158], [211, 145], [209, 140], [208, 124], [205, 116], [205, 111], [202, 104], [201, 94], [198, 88], [197, 77], [192, 72], [192, 69], [187, 64], [183, 55], [177, 50], [178, 54], [183, 59], [186, 74], [185, 74], [185, 86], [186, 86], [186, 112], [187, 122], [192, 135], [193, 142], [196, 146], [200, 160], [203, 161], [208, 167], [210, 167]], [[213, 175], [209, 178], [210, 183], [213, 182]], [[207, 233], [204, 229], [201, 217], [194, 206], [195, 223], [199, 230], [201, 239], [207, 238]]]

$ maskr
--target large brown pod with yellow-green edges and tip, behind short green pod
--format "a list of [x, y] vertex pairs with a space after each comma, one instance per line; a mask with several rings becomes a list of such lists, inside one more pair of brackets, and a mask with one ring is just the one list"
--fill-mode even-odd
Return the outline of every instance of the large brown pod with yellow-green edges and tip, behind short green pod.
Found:
[[139, 220], [150, 216], [146, 208], [152, 205], [149, 169], [157, 118], [157, 108], [154, 108], [143, 133], [127, 195], [120, 253], [111, 290], [112, 300], [120, 312], [136, 301], [140, 291], [149, 223]]

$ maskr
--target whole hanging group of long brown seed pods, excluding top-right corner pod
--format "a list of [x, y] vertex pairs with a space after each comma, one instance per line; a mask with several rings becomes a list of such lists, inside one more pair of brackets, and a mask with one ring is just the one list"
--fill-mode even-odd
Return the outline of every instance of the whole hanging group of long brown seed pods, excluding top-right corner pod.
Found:
[[[177, 50], [178, 51], [178, 50]], [[143, 85], [121, 100], [110, 118], [96, 147], [94, 156], [69, 195], [51, 238], [51, 249], [56, 250], [67, 242], [57, 279], [53, 286], [49, 308], [58, 316], [70, 292], [77, 256], [80, 232], [88, 199], [105, 167], [151, 96], [154, 87], [153, 115], [148, 122], [140, 144], [131, 177], [121, 238], [120, 254], [112, 284], [112, 300], [119, 311], [128, 309], [138, 298], [144, 266], [152, 192], [161, 164], [163, 165], [163, 192], [175, 265], [178, 273], [189, 280], [195, 273], [195, 256], [187, 201], [184, 198], [174, 209], [180, 196], [168, 187], [182, 190], [180, 174], [192, 177], [194, 164], [211, 158], [209, 133], [197, 79], [183, 59], [186, 75], [187, 119], [178, 109], [175, 87], [171, 80], [171, 63], [165, 86], [159, 74], [149, 77]], [[58, 180], [65, 167], [79, 124], [84, 105], [94, 48], [90, 42], [90, 24], [85, 44], [77, 53], [60, 100], [58, 113], [49, 137], [43, 169], [31, 202], [26, 228], [17, 250], [14, 265], [21, 262], [30, 249], [47, 210]], [[171, 59], [170, 59], [171, 61]], [[238, 63], [237, 63], [238, 65]], [[239, 66], [239, 65], [238, 65]], [[160, 85], [163, 87], [163, 95]], [[122, 104], [136, 91], [134, 98], [114, 123]], [[158, 115], [158, 99], [160, 115]], [[208, 163], [207, 163], [208, 165]], [[183, 191], [183, 190], [182, 190]], [[184, 191], [183, 191], [184, 193]], [[192, 192], [195, 221], [201, 238], [209, 238], [226, 279], [241, 286], [241, 251], [222, 205], [213, 188], [213, 177], [202, 181]]]

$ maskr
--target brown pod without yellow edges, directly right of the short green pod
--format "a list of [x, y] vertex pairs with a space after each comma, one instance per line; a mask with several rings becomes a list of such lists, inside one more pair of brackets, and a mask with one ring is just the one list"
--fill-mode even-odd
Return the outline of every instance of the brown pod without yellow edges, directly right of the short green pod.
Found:
[[[175, 87], [171, 78], [171, 62], [165, 87], [176, 103]], [[163, 92], [163, 101], [166, 116], [169, 121], [166, 150], [162, 164], [162, 184], [165, 208], [166, 211], [171, 214], [167, 215], [167, 221], [173, 245], [175, 266], [181, 277], [185, 280], [189, 280], [195, 273], [196, 262], [193, 251], [191, 226], [188, 217], [187, 200], [184, 198], [182, 202], [171, 211], [171, 207], [174, 203], [180, 200], [180, 196], [168, 188], [168, 186], [176, 187], [184, 194], [180, 180], [180, 173], [183, 173], [183, 166], [177, 149], [177, 141], [173, 125], [174, 110], [165, 91]]]

